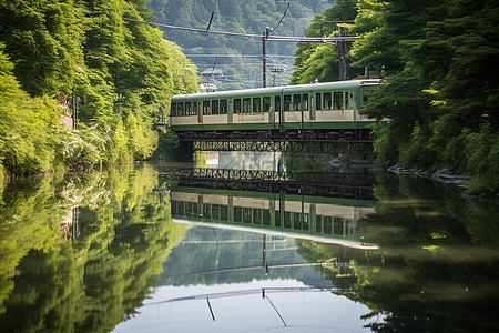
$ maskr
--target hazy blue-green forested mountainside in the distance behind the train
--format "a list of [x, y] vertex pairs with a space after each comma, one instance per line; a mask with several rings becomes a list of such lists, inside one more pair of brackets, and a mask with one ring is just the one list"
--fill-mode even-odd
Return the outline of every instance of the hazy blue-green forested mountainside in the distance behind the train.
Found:
[[[334, 0], [274, 1], [274, 0], [147, 0], [159, 23], [210, 30], [263, 34], [266, 27], [276, 28], [271, 36], [302, 36], [314, 14], [329, 8]], [[284, 16], [284, 19], [283, 19]], [[282, 22], [277, 23], [282, 20]], [[223, 78], [204, 78], [223, 90], [262, 87], [262, 40], [258, 38], [226, 37], [192, 31], [165, 29], [165, 38], [182, 47], [200, 72], [216, 68]], [[295, 44], [267, 43], [271, 84], [286, 84], [293, 70]], [[218, 54], [212, 57], [208, 54]], [[228, 56], [230, 57], [224, 57]], [[244, 56], [244, 57], [238, 57]], [[246, 56], [252, 56], [246, 58]]]

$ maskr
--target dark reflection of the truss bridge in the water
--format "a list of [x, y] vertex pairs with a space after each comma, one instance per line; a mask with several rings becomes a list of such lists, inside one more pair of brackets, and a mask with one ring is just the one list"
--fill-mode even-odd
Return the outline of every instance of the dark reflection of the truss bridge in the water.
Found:
[[369, 173], [278, 172], [262, 170], [189, 169], [179, 171], [179, 184], [301, 195], [373, 199]]

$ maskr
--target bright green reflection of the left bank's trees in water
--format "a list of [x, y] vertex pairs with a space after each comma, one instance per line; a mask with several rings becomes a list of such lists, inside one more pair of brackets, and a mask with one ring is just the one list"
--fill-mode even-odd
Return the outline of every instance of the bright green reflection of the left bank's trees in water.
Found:
[[[19, 186], [19, 184], [17, 184]], [[22, 184], [21, 184], [22, 185]], [[110, 331], [134, 314], [185, 228], [147, 165], [7, 189], [0, 206], [1, 331]], [[80, 236], [60, 223], [79, 205]]]

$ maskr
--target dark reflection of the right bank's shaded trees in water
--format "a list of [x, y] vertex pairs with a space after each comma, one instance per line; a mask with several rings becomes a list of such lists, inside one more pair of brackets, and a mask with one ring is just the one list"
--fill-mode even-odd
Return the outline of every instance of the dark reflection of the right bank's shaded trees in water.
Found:
[[[370, 324], [371, 330], [495, 331], [499, 251], [492, 221], [498, 206], [462, 199], [454, 186], [413, 178], [380, 178], [375, 194], [377, 213], [363, 224], [366, 241], [380, 250], [349, 250], [354, 276], [342, 280], [354, 290], [349, 297], [373, 310], [366, 317], [386, 316]], [[318, 259], [335, 256], [338, 250], [305, 243], [301, 253]], [[329, 275], [338, 284], [337, 271]]]

